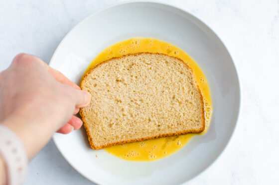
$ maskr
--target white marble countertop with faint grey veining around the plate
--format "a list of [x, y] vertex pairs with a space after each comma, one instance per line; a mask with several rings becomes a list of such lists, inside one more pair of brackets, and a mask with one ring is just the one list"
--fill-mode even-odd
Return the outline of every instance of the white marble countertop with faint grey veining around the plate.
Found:
[[[118, 1], [1, 0], [0, 70], [20, 52], [49, 62], [74, 25]], [[173, 0], [172, 4], [199, 17], [221, 37], [242, 81], [242, 114], [233, 139], [217, 162], [192, 184], [278, 184], [279, 0]], [[50, 141], [29, 164], [24, 185], [37, 184], [92, 183]]]

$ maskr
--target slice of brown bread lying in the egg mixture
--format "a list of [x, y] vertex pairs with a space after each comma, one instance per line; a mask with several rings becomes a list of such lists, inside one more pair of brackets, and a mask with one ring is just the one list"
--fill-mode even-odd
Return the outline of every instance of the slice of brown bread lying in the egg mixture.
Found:
[[92, 95], [80, 115], [93, 149], [204, 130], [201, 92], [192, 69], [178, 58], [113, 58], [91, 69], [81, 89]]

